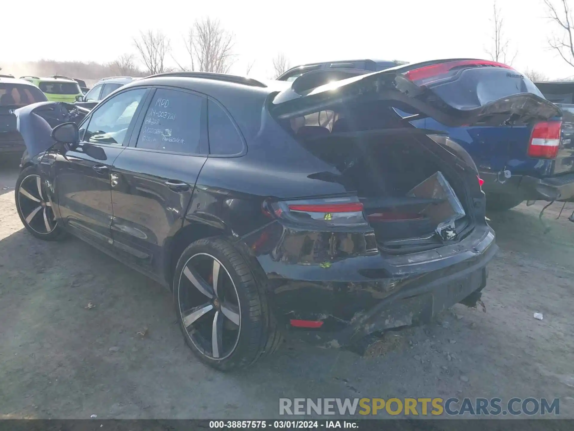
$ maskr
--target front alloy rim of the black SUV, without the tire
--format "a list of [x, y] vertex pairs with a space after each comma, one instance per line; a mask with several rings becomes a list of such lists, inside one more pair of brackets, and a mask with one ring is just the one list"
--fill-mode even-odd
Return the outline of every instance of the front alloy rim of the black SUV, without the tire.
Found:
[[47, 235], [56, 229], [56, 217], [40, 175], [28, 175], [18, 187], [18, 203], [22, 218], [34, 232]]

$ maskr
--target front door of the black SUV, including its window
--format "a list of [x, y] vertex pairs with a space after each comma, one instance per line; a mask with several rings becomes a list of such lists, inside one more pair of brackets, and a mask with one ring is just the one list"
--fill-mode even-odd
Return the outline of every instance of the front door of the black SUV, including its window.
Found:
[[80, 125], [80, 144], [68, 146], [56, 158], [61, 219], [98, 244], [111, 244], [111, 167], [130, 138], [147, 91], [123, 91], [98, 106]]

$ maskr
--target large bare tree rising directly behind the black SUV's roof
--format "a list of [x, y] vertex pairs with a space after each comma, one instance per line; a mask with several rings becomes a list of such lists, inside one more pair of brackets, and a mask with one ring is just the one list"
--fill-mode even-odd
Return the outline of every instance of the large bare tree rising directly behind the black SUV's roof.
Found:
[[219, 20], [196, 20], [185, 40], [191, 70], [226, 74], [235, 61], [235, 36]]

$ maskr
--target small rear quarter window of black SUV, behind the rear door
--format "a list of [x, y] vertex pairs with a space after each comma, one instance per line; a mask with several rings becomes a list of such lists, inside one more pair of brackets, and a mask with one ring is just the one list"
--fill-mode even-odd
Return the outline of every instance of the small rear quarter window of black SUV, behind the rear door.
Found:
[[217, 103], [210, 100], [208, 106], [210, 154], [230, 156], [241, 153], [243, 141], [231, 118]]

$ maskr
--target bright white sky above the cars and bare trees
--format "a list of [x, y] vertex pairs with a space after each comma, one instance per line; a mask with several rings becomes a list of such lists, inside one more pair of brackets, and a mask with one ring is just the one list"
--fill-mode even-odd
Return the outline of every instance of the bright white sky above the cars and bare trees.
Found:
[[[261, 78], [272, 75], [271, 60], [280, 51], [292, 66], [351, 58], [410, 62], [488, 58], [484, 50], [491, 46], [493, 33], [489, 0], [28, 0], [25, 4], [25, 9], [20, 1], [2, 4], [2, 64], [38, 59], [111, 61], [122, 53], [135, 53], [133, 37], [148, 29], [168, 35], [173, 56], [187, 64], [183, 36], [196, 18], [207, 16], [218, 18], [235, 34], [237, 57], [231, 72], [245, 74], [246, 64], [255, 60], [251, 75]], [[574, 75], [574, 68], [548, 49], [548, 37], [557, 28], [545, 18], [542, 0], [498, 0], [497, 5], [510, 51], [518, 51], [515, 68], [532, 68], [549, 78]]]

